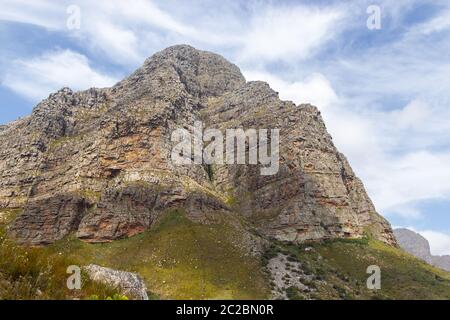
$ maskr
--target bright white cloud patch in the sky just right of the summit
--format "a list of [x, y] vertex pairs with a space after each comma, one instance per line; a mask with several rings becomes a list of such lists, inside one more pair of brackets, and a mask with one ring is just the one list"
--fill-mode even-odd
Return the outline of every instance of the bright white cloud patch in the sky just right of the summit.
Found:
[[333, 38], [343, 16], [337, 9], [266, 7], [252, 16], [239, 58], [292, 62], [310, 57]]

